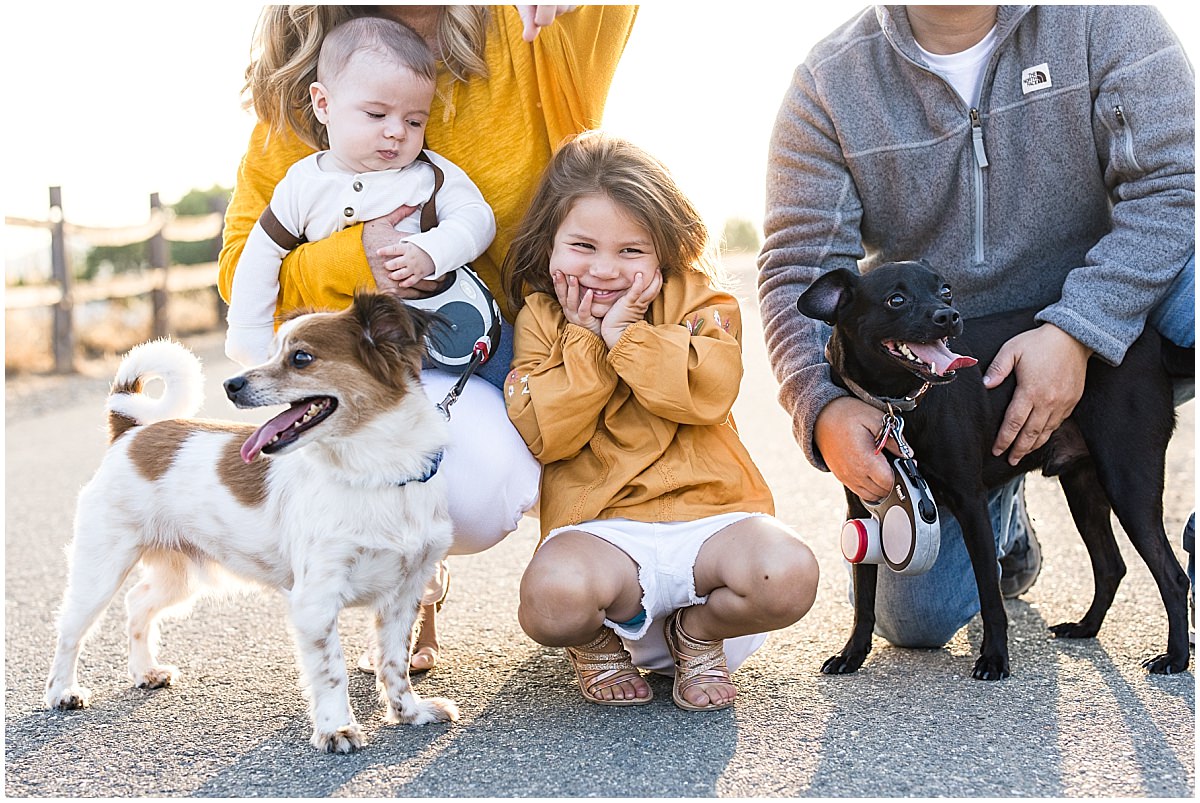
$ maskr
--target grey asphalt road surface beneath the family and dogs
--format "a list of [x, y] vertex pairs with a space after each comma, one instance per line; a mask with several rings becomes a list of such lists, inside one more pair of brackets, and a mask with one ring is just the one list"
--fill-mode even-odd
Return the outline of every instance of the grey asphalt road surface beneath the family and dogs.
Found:
[[[74, 497], [104, 449], [103, 402], [115, 362], [71, 378], [6, 382], [5, 792], [10, 797], [1186, 797], [1195, 795], [1195, 677], [1147, 676], [1166, 618], [1145, 564], [1118, 533], [1129, 573], [1099, 636], [1052, 639], [1091, 599], [1086, 550], [1057, 483], [1027, 484], [1044, 552], [1037, 585], [1007, 603], [1013, 675], [971, 679], [978, 617], [944, 648], [876, 639], [863, 669], [826, 677], [848, 634], [836, 535], [840, 486], [812, 469], [775, 401], [748, 259], [742, 280], [745, 379], [734, 408], [775, 492], [778, 515], [822, 569], [808, 617], [768, 640], [734, 675], [737, 705], [689, 713], [652, 677], [652, 705], [586, 703], [563, 651], [516, 622], [536, 522], [497, 547], [452, 557], [439, 666], [416, 683], [455, 699], [454, 725], [388, 726], [373, 679], [352, 672], [370, 741], [353, 755], [307, 743], [286, 609], [278, 595], [205, 600], [163, 627], [169, 689], [131, 687], [119, 595], [82, 661], [91, 708], [41, 707], [64, 582]], [[188, 344], [208, 373], [202, 415], [239, 413], [220, 392], [233, 364], [221, 338]], [[1195, 409], [1180, 409], [1168, 455], [1166, 529], [1195, 507]], [[366, 646], [361, 611], [342, 617], [349, 660]], [[1194, 658], [1193, 658], [1194, 660]]]

